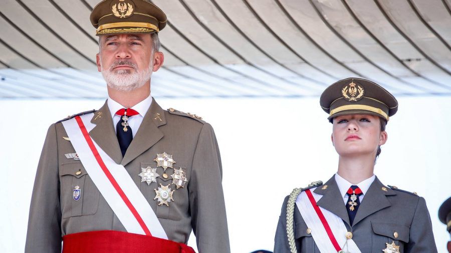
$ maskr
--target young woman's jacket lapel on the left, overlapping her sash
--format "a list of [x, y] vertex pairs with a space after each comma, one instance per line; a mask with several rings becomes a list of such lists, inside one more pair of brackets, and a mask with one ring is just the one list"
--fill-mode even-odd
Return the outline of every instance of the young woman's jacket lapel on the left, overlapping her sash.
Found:
[[[327, 187], [324, 187], [326, 185]], [[349, 225], [348, 212], [346, 211], [343, 196], [335, 181], [335, 175], [333, 175], [325, 184], [317, 187], [313, 192], [323, 195], [316, 204], [339, 216]]]

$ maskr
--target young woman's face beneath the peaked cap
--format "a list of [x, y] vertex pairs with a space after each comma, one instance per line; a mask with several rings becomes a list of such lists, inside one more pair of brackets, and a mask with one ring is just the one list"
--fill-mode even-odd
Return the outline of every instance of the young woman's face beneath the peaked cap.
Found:
[[380, 130], [380, 118], [370, 114], [340, 115], [333, 119], [332, 144], [340, 156], [376, 156], [377, 147], [387, 140]]

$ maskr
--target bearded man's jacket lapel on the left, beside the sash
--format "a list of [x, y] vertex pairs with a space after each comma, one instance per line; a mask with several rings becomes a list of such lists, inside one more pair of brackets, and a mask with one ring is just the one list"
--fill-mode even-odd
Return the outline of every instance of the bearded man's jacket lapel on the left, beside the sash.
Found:
[[107, 102], [98, 111], [94, 112], [91, 123], [96, 126], [89, 132], [89, 135], [106, 154], [119, 164], [122, 160], [122, 153]]

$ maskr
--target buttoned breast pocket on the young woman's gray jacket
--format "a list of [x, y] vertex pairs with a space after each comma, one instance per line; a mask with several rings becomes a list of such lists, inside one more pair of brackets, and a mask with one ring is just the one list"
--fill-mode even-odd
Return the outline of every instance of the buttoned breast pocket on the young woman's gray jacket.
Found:
[[[403, 252], [404, 244], [409, 242], [409, 226], [392, 222], [371, 221], [373, 228], [372, 242], [373, 250], [383, 250], [394, 243], [399, 246], [399, 252]], [[380, 249], [379, 249], [380, 248]]]

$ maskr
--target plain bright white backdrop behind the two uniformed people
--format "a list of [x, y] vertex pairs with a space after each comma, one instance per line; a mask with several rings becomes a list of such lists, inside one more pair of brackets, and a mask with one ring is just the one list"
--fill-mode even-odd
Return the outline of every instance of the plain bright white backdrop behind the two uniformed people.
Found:
[[[284, 197], [336, 171], [331, 124], [319, 98], [158, 99], [201, 115], [215, 129], [232, 252], [272, 249]], [[401, 97], [375, 173], [426, 198], [438, 251], [449, 234], [437, 219], [451, 195], [451, 97]], [[23, 252], [36, 166], [48, 126], [102, 100], [2, 100], [0, 249]], [[35, 192], [34, 194], [40, 194]], [[195, 244], [194, 237], [189, 244]], [[382, 247], [381, 247], [382, 250]]]

